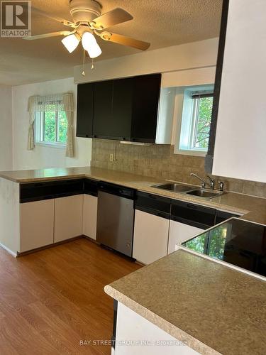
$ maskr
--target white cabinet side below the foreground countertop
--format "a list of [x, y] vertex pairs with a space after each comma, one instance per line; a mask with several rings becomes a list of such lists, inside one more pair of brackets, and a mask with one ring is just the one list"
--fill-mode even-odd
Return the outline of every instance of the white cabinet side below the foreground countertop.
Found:
[[118, 302], [115, 355], [196, 355], [186, 344], [172, 337]]

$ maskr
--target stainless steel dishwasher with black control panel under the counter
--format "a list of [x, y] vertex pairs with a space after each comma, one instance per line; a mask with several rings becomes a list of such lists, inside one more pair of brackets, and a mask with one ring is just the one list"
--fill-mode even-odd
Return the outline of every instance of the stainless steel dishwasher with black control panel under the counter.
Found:
[[100, 182], [96, 241], [132, 257], [133, 228], [134, 190]]

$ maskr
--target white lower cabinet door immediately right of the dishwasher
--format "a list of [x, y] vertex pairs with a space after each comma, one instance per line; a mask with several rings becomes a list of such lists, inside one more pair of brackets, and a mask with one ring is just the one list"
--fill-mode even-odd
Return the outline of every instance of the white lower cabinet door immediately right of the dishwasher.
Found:
[[169, 219], [135, 210], [133, 258], [153, 263], [167, 255]]

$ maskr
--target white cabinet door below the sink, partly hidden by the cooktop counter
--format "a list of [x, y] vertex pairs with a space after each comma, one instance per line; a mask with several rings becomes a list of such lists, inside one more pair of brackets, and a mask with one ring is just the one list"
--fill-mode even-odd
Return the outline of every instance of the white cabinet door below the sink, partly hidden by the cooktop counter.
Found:
[[167, 253], [170, 254], [173, 251], [176, 251], [178, 245], [182, 244], [183, 241], [196, 236], [196, 234], [201, 233], [201, 231], [204, 231], [204, 229], [171, 220]]

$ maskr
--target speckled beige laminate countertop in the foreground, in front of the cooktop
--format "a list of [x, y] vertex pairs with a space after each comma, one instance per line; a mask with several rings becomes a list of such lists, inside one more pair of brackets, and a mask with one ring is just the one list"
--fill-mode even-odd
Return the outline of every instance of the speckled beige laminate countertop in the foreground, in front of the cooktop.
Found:
[[178, 250], [105, 287], [200, 354], [265, 354], [266, 282]]

